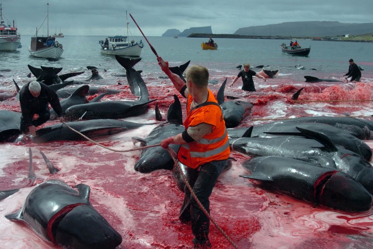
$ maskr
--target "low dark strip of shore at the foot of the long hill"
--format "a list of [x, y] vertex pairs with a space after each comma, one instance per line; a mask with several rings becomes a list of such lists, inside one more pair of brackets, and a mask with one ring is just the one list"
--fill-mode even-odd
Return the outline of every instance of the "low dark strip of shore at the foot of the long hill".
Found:
[[364, 39], [360, 37], [292, 37], [292, 36], [280, 36], [280, 35], [239, 35], [239, 34], [202, 34], [192, 33], [187, 38], [232, 38], [232, 39], [272, 39], [272, 40], [316, 40], [316, 41], [351, 41], [351, 42], [373, 42], [373, 39]]

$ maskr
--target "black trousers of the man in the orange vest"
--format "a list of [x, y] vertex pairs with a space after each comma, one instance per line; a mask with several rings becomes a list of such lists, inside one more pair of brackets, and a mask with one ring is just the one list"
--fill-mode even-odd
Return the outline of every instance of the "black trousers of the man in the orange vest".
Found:
[[[208, 198], [212, 193], [217, 178], [224, 169], [227, 160], [212, 161], [200, 166], [199, 170], [187, 168], [187, 180], [193, 192], [201, 202], [202, 206], [210, 213], [210, 201]], [[210, 220], [199, 208], [190, 191], [185, 186], [184, 202], [180, 210], [181, 221], [191, 221], [191, 231], [199, 241], [208, 240]]]

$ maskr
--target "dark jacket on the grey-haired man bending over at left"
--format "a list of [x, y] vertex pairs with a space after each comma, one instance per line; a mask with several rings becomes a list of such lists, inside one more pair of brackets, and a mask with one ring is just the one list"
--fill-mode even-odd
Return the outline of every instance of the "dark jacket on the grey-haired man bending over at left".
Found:
[[48, 104], [51, 104], [58, 117], [63, 117], [62, 108], [57, 94], [44, 83], [40, 83], [40, 95], [35, 98], [28, 90], [30, 83], [24, 85], [19, 92], [19, 102], [21, 104], [22, 117], [27, 126], [32, 125], [34, 114], [40, 113]]

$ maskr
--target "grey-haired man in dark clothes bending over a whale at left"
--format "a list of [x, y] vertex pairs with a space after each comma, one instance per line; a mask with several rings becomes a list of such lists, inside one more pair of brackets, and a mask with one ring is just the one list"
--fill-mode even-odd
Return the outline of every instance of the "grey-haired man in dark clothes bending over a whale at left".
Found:
[[[60, 122], [64, 122], [63, 112], [57, 94], [44, 83], [32, 81], [24, 85], [19, 92], [19, 102], [21, 105], [20, 130], [27, 131], [35, 135], [36, 127], [49, 120], [50, 104], [57, 113]], [[37, 114], [38, 118], [33, 119]]]

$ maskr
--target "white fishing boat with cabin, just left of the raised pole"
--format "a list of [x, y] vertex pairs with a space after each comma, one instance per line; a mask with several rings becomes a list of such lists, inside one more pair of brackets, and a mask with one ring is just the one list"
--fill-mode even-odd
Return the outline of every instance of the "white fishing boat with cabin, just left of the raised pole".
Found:
[[[127, 14], [126, 14], [127, 19]], [[139, 57], [141, 54], [141, 50], [144, 47], [144, 44], [140, 40], [136, 42], [132, 39], [131, 41], [128, 39], [128, 24], [129, 21], [127, 20], [127, 35], [115, 35], [115, 36], [107, 36], [105, 41], [100, 40], [98, 43], [101, 47], [101, 53], [109, 54], [109, 55], [121, 55], [121, 56], [134, 56]]]

